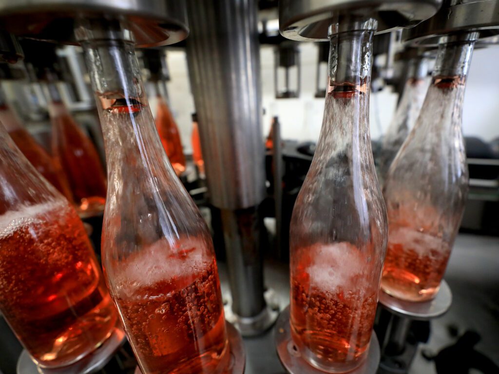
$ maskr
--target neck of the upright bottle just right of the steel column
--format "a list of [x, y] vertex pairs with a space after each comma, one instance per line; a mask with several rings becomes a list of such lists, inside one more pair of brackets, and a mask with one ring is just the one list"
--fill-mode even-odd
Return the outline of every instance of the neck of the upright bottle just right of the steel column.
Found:
[[317, 159], [335, 157], [338, 152], [362, 162], [372, 159], [369, 85], [374, 26], [363, 29], [353, 26], [347, 28], [353, 31], [340, 32], [330, 38], [329, 88]]

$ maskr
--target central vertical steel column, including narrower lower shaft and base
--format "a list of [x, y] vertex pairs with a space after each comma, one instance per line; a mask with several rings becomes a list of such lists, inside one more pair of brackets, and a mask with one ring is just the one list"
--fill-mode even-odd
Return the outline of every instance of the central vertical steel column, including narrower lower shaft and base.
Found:
[[264, 146], [253, 0], [188, 1], [187, 59], [211, 203], [221, 209], [232, 291], [228, 320], [243, 335], [273, 321], [263, 297], [258, 205]]

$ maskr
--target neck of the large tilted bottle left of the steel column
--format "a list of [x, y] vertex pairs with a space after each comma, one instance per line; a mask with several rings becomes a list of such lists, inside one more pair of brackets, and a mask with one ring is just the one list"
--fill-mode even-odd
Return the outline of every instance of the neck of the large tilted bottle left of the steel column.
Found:
[[96, 95], [109, 184], [113, 185], [114, 177], [126, 179], [127, 168], [150, 179], [163, 173], [163, 167], [175, 175], [154, 125], [133, 38], [127, 37], [130, 34], [119, 22], [82, 24], [79, 31]]

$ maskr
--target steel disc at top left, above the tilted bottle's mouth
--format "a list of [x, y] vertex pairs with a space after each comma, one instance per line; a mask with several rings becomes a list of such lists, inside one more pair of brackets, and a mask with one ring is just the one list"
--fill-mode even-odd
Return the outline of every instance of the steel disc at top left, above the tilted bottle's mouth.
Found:
[[118, 16], [130, 23], [137, 46], [165, 45], [187, 37], [184, 1], [0, 0], [2, 27], [16, 35], [77, 44], [74, 20]]

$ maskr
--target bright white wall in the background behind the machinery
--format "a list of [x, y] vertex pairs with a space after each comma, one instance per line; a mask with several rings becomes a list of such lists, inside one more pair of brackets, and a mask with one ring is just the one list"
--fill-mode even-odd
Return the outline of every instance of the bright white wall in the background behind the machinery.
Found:
[[[272, 116], [278, 115], [285, 139], [313, 140], [319, 136], [324, 99], [314, 98], [317, 48], [312, 43], [300, 44], [301, 94], [298, 99], [274, 97], [273, 48], [263, 46], [260, 50], [261, 79], [263, 92], [263, 135], [266, 136]], [[499, 136], [499, 46], [477, 49], [469, 74], [463, 130], [467, 136], [478, 136], [490, 141]], [[182, 50], [168, 52], [171, 81], [168, 83], [172, 110], [180, 128], [186, 153], [191, 147], [191, 113], [194, 102], [190, 91], [187, 60]], [[397, 95], [389, 89], [371, 95], [371, 137], [379, 138], [390, 123], [395, 111]], [[155, 108], [154, 99], [151, 107]]]

